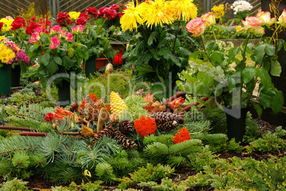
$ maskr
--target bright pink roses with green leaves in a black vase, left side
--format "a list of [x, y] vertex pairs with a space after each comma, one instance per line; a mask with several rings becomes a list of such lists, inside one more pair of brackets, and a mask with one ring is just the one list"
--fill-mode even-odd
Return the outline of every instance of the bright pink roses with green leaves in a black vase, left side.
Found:
[[[28, 56], [34, 62], [38, 58], [38, 77], [43, 87], [58, 87], [59, 104], [70, 104], [70, 73], [79, 74], [83, 59], [88, 59], [88, 48], [78, 43], [75, 35], [60, 26], [35, 28], [29, 43]], [[79, 32], [80, 33], [80, 32]]]

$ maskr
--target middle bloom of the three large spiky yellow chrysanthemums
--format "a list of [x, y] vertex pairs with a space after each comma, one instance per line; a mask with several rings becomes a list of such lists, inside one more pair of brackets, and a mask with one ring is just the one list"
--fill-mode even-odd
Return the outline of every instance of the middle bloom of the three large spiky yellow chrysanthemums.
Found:
[[174, 21], [173, 13], [164, 0], [144, 1], [138, 9], [147, 27], [162, 26], [162, 23], [171, 24]]

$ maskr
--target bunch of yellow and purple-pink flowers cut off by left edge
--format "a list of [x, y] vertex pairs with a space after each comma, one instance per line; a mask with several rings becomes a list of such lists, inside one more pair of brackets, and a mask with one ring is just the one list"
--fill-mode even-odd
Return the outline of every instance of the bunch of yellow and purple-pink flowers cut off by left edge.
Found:
[[5, 36], [0, 36], [0, 66], [6, 65], [28, 64], [30, 59], [25, 51], [18, 47], [14, 42], [7, 40]]

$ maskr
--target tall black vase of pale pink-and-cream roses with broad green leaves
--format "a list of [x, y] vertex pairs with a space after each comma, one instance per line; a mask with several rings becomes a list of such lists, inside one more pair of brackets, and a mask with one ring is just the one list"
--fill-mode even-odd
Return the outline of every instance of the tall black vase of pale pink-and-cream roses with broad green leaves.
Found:
[[[279, 31], [282, 26], [285, 26], [286, 11], [282, 13], [279, 20], [279, 26], [275, 28], [275, 32]], [[202, 18], [204, 18], [202, 16]], [[203, 31], [208, 25], [214, 25], [213, 16], [207, 18], [196, 18], [189, 21], [186, 26], [187, 31], [192, 33], [192, 36], [201, 38], [201, 50], [193, 53], [189, 58], [189, 66], [196, 70], [196, 75], [186, 74], [186, 83], [178, 81], [180, 89], [190, 94], [207, 96], [214, 98], [216, 103], [223, 107], [229, 118], [228, 138], [234, 138], [235, 141], [242, 141], [245, 129], [246, 111], [253, 104], [253, 107], [261, 115], [262, 110], [272, 107], [273, 113], [281, 111], [283, 105], [282, 92], [274, 87], [271, 82], [271, 77], [279, 76], [281, 72], [280, 63], [277, 62], [277, 51], [282, 49], [285, 43], [282, 40], [274, 40], [275, 34], [271, 38], [263, 37], [263, 41], [254, 46], [253, 43], [248, 43], [248, 40], [253, 34], [264, 34], [265, 28], [272, 25], [276, 19], [270, 18], [270, 13], [260, 12], [257, 17], [246, 17], [242, 21], [245, 33], [248, 33], [248, 38], [245, 39], [243, 45], [238, 47], [228, 46], [227, 48], [221, 45], [221, 42], [209, 40], [205, 43], [203, 40]], [[263, 26], [265, 28], [263, 28]], [[275, 44], [276, 42], [276, 44]], [[285, 47], [286, 48], [286, 47]], [[236, 55], [240, 53], [241, 57]], [[252, 64], [247, 62], [246, 55], [253, 60]], [[235, 67], [230, 67], [231, 63], [235, 63]], [[255, 86], [259, 84], [258, 95], [259, 104], [251, 102]], [[242, 112], [243, 111], [243, 112]], [[231, 119], [233, 117], [233, 119]], [[242, 119], [238, 122], [235, 119]], [[231, 120], [235, 123], [231, 124]], [[243, 122], [244, 120], [244, 122]], [[237, 124], [240, 124], [242, 132], [238, 131]], [[231, 130], [231, 127], [234, 129]]]

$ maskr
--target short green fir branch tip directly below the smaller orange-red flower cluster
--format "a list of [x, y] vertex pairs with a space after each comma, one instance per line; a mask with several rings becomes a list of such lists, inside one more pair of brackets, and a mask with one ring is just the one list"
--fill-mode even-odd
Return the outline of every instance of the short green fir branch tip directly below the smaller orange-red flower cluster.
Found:
[[191, 139], [169, 147], [170, 155], [188, 155], [201, 150], [201, 140]]

